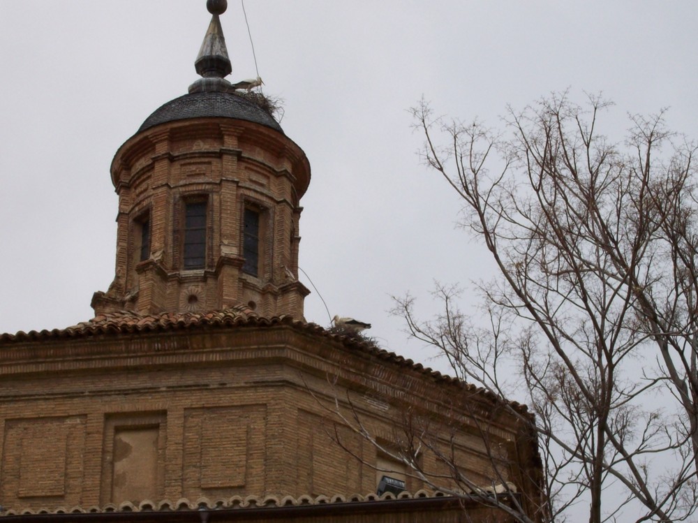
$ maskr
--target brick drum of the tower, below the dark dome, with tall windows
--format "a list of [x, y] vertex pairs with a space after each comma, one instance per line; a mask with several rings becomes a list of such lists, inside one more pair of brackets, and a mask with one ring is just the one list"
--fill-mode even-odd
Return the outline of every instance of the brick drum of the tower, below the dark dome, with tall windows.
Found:
[[[282, 132], [250, 121], [184, 119], [136, 134], [112, 161], [117, 263], [109, 290], [93, 297], [95, 313], [245, 304], [263, 316], [302, 318], [309, 291], [298, 281], [299, 200], [309, 181], [302, 149]], [[183, 263], [187, 202], [206, 209], [205, 263], [191, 269]], [[260, 215], [256, 275], [242, 270], [246, 208]], [[142, 249], [144, 237], [149, 246]]]

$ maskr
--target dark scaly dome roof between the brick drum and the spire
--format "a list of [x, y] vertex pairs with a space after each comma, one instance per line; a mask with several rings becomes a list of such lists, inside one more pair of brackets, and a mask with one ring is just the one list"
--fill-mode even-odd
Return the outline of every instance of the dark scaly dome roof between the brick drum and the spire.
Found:
[[272, 118], [272, 115], [258, 105], [243, 96], [221, 91], [203, 91], [174, 98], [147, 117], [138, 129], [138, 133], [168, 121], [203, 117], [253, 121], [255, 124], [271, 127], [283, 133], [281, 126]]

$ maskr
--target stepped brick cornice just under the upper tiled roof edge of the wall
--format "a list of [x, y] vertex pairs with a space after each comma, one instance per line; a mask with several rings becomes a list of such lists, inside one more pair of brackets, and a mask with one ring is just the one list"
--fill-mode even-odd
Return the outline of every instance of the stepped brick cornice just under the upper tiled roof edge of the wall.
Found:
[[121, 332], [112, 325], [82, 339], [49, 337], [12, 344], [3, 344], [3, 335], [0, 376], [283, 361], [323, 379], [336, 376], [343, 385], [352, 384], [353, 389], [358, 385], [359, 389], [378, 390], [398, 402], [416, 396], [443, 404], [444, 390], [457, 390], [468, 392], [468, 402], [474, 402], [473, 405], [483, 402], [475, 409], [482, 413], [491, 410], [491, 406], [505, 404], [526, 412], [525, 407], [503, 402], [487, 390], [461, 383], [371, 344], [328, 335], [313, 324], [283, 318], [239, 318], [229, 325], [187, 326], [181, 322], [171, 327], [174, 332], [162, 324], [144, 324], [131, 328], [131, 332]]

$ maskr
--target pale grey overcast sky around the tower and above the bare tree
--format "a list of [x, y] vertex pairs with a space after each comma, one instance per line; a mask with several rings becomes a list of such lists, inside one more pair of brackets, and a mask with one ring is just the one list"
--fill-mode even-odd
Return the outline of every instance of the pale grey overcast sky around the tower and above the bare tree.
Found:
[[[330, 314], [373, 323], [417, 361], [391, 318], [410, 291], [429, 314], [433, 279], [487, 276], [482, 247], [454, 228], [456, 197], [419, 165], [408, 108], [490, 126], [550, 91], [603, 91], [621, 140], [628, 112], [668, 107], [698, 136], [698, 2], [247, 0], [265, 93], [308, 155], [302, 269]], [[114, 276], [119, 145], [186, 93], [210, 15], [204, 0], [0, 0], [0, 332], [92, 316]], [[256, 75], [239, 1], [221, 17], [235, 81]], [[310, 287], [303, 277], [302, 281]], [[472, 303], [470, 292], [463, 304]], [[317, 293], [306, 318], [327, 325]]]

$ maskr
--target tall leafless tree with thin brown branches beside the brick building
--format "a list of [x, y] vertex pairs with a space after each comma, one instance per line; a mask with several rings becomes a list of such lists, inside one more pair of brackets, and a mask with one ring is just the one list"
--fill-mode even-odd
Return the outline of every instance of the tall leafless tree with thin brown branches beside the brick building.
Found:
[[500, 133], [414, 108], [422, 159], [498, 277], [480, 286], [484, 322], [449, 286], [433, 320], [409, 296], [396, 313], [456, 376], [533, 410], [548, 520], [681, 521], [698, 499], [697, 147], [663, 112], [611, 142], [609, 105], [553, 95]]

